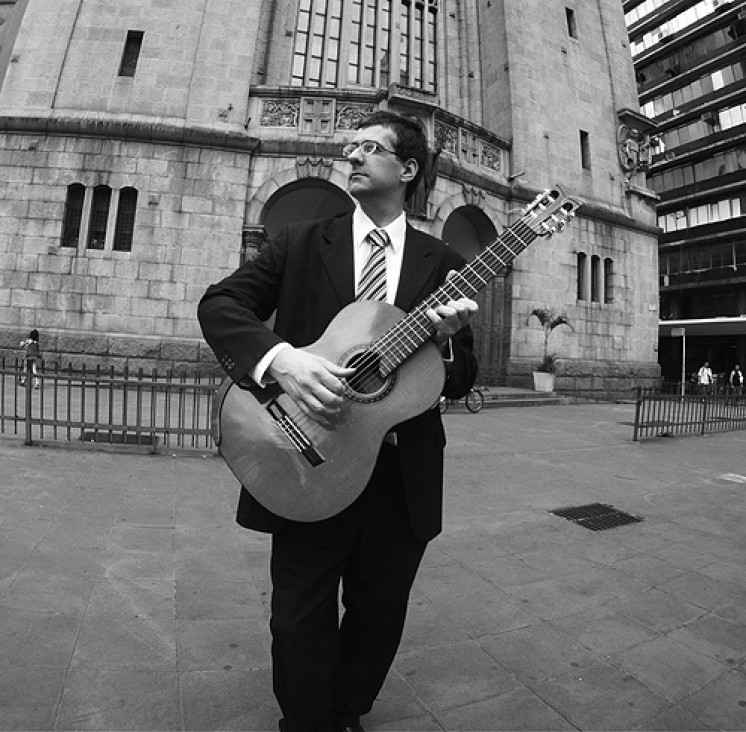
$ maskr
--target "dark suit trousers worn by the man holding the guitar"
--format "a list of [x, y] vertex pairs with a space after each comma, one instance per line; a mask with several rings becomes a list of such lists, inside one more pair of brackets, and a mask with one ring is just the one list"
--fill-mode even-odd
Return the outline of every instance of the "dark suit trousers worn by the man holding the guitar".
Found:
[[349, 508], [273, 535], [270, 628], [280, 729], [328, 732], [370, 711], [399, 647], [424, 550], [409, 525], [396, 448], [388, 445]]

